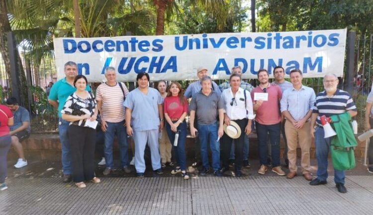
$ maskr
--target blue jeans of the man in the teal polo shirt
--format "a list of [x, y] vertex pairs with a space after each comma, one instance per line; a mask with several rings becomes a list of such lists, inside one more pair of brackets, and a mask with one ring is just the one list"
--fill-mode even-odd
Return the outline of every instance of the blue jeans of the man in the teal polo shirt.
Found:
[[58, 132], [60, 135], [61, 149], [62, 149], [62, 172], [66, 175], [72, 173], [70, 141], [68, 135], [68, 128], [70, 122], [63, 120], [61, 117], [58, 119]]

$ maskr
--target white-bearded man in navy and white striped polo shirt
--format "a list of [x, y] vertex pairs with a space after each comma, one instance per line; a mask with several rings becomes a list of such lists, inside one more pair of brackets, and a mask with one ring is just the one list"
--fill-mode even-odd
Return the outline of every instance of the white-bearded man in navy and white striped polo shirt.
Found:
[[[337, 89], [338, 78], [334, 74], [324, 76], [323, 84], [325, 91], [318, 93], [311, 116], [311, 135], [315, 138], [317, 158], [317, 178], [310, 185], [326, 184], [328, 177], [328, 154], [331, 137], [324, 138], [324, 129], [321, 125], [320, 116], [329, 117], [335, 114], [349, 112], [351, 117], [355, 116], [357, 108], [348, 92]], [[315, 130], [316, 124], [316, 130]], [[347, 193], [345, 187], [345, 171], [334, 169], [334, 182], [338, 192]]]

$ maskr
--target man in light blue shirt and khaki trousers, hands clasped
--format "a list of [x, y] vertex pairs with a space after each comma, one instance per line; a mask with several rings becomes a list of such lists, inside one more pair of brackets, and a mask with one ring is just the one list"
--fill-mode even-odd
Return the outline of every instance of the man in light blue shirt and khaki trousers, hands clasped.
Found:
[[309, 134], [312, 107], [315, 103], [315, 91], [302, 85], [302, 72], [298, 69], [290, 71], [292, 89], [285, 90], [281, 99], [281, 113], [286, 118], [285, 133], [287, 136], [287, 157], [289, 159], [288, 179], [296, 176], [296, 147], [299, 143], [301, 153], [302, 175], [307, 181], [312, 180], [310, 174], [309, 150], [311, 135]]

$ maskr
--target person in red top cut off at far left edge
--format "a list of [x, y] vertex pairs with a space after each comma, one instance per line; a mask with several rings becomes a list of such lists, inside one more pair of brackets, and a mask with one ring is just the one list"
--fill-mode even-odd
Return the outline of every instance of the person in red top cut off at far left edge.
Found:
[[6, 155], [11, 144], [9, 134], [10, 125], [13, 125], [13, 114], [8, 107], [0, 105], [0, 190], [7, 189], [5, 185]]

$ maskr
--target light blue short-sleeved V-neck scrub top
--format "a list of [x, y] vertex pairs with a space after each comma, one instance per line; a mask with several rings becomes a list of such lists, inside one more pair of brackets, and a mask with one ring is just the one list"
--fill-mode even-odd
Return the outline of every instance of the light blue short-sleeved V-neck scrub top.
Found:
[[154, 89], [148, 88], [148, 94], [143, 94], [139, 88], [131, 91], [123, 106], [132, 110], [131, 126], [136, 131], [158, 129], [159, 110], [158, 105], [163, 104], [161, 94]]

